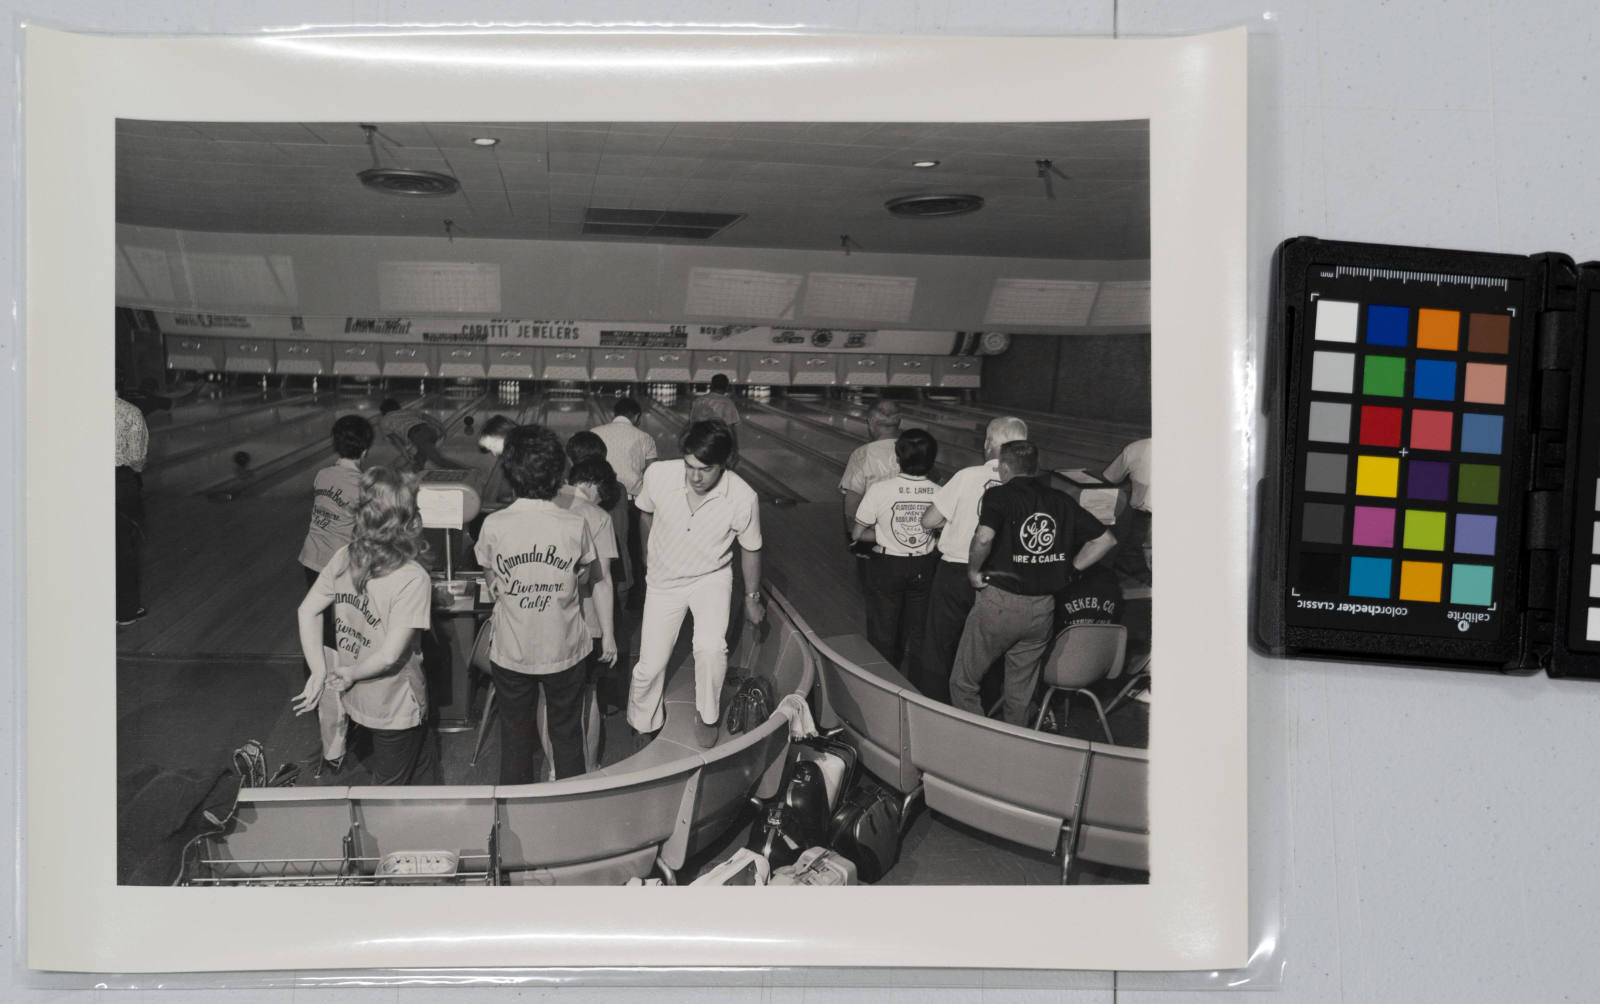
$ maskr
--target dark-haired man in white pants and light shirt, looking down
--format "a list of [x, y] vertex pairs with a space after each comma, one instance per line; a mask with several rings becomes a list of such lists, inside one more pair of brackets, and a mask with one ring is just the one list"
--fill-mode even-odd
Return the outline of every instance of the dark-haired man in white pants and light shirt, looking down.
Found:
[[627, 724], [640, 734], [662, 724], [661, 691], [667, 659], [694, 614], [696, 739], [717, 742], [722, 681], [728, 673], [728, 612], [733, 600], [733, 542], [739, 542], [744, 616], [758, 625], [762, 606], [762, 516], [755, 489], [728, 470], [733, 433], [715, 419], [694, 422], [678, 436], [682, 460], [645, 470], [635, 499], [645, 544], [645, 616], [638, 625], [638, 663], [627, 694]]

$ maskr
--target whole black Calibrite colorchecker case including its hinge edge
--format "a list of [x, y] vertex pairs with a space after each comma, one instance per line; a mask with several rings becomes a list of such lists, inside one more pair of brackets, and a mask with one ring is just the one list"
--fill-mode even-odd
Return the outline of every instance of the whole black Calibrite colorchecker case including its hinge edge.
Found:
[[1560, 254], [1278, 248], [1264, 647], [1600, 676], [1597, 293]]

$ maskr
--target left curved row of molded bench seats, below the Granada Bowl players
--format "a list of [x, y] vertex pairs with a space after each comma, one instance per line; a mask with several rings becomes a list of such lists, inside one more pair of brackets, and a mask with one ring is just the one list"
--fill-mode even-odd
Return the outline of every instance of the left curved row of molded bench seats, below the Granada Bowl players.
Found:
[[[747, 670], [765, 676], [774, 694], [805, 697], [816, 657], [792, 604], [776, 590], [773, 598], [768, 635]], [[789, 748], [781, 711], [701, 748], [693, 697], [694, 675], [683, 668], [667, 687], [666, 724], [648, 747], [570, 780], [243, 788], [234, 830], [206, 838], [186, 879], [370, 884], [386, 855], [438, 851], [458, 857], [461, 884], [621, 884], [653, 868], [670, 875], [722, 836], [752, 795], [776, 793]]]

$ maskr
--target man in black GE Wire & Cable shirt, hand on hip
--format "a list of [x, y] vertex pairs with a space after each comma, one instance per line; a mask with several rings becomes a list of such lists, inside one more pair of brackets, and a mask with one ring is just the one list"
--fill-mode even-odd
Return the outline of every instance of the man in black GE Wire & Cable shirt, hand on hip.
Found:
[[968, 556], [976, 592], [950, 671], [950, 702], [982, 715], [978, 684], [1005, 655], [1005, 721], [1021, 726], [1050, 644], [1056, 595], [1114, 547], [1117, 537], [1072, 496], [1038, 476], [1038, 448], [1000, 448], [1000, 484], [984, 492]]

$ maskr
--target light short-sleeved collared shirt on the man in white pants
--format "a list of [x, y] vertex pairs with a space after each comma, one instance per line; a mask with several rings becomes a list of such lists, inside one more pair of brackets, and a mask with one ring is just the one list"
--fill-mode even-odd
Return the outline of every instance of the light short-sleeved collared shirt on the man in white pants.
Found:
[[758, 499], [744, 478], [725, 470], [690, 512], [693, 494], [683, 460], [658, 460], [645, 470], [637, 504], [653, 513], [646, 585], [677, 585], [726, 568], [734, 539], [747, 552], [762, 550]]

